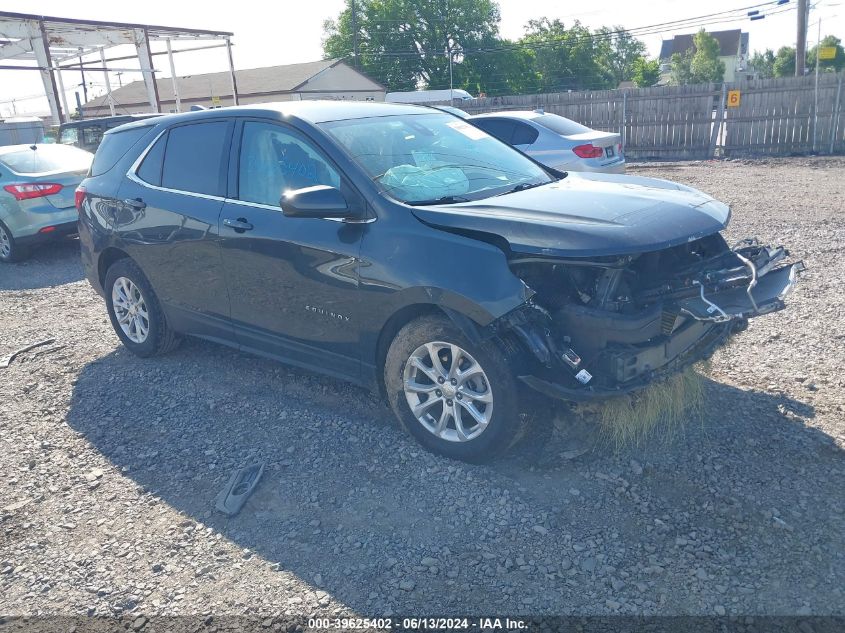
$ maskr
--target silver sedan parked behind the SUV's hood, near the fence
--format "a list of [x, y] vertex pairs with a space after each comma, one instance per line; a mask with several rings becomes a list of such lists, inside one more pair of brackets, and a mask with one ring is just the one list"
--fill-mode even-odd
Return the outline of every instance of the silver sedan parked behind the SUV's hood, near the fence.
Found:
[[559, 171], [625, 172], [622, 137], [540, 110], [476, 114], [468, 119], [500, 141]]

